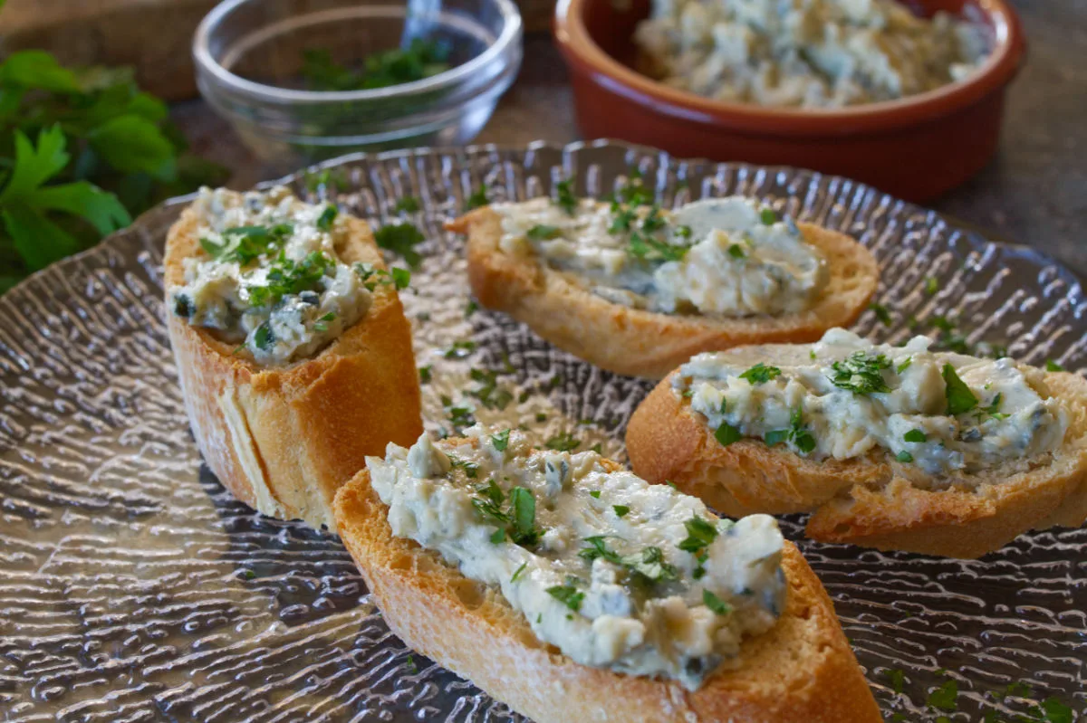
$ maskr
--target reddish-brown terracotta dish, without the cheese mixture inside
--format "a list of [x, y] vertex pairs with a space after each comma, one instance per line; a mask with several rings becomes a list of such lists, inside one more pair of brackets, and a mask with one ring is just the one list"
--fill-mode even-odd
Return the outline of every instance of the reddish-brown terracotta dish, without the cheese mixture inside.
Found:
[[619, 138], [680, 157], [812, 168], [924, 201], [976, 174], [997, 149], [1004, 91], [1026, 42], [1005, 0], [923, 0], [986, 23], [995, 48], [963, 83], [834, 110], [725, 103], [669, 88], [630, 66], [648, 0], [559, 0], [554, 36], [586, 138]]

